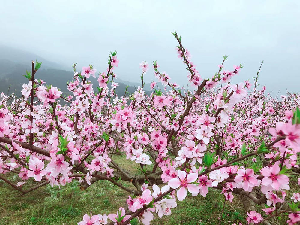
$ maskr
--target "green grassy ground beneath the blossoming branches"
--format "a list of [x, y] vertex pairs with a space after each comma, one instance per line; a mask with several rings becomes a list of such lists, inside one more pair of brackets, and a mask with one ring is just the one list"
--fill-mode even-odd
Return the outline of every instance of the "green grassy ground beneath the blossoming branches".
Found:
[[[127, 161], [121, 156], [114, 160], [129, 166], [125, 165]], [[78, 182], [74, 181], [61, 187], [61, 190], [48, 185], [19, 198], [15, 197], [16, 194], [16, 190], [0, 181], [0, 225], [76, 224], [90, 211], [93, 214], [116, 213], [120, 206], [124, 206], [128, 196], [127, 192], [112, 187], [108, 181], [98, 181], [85, 191], [81, 191]], [[172, 209], [170, 216], [158, 218], [155, 215], [152, 224], [231, 225], [236, 221], [244, 224], [246, 214], [239, 196], [234, 196], [233, 203], [226, 202], [221, 220], [223, 202], [224, 195], [214, 189], [205, 198], [188, 195], [183, 202], [177, 201], [178, 206]], [[131, 224], [140, 223], [135, 219]]]

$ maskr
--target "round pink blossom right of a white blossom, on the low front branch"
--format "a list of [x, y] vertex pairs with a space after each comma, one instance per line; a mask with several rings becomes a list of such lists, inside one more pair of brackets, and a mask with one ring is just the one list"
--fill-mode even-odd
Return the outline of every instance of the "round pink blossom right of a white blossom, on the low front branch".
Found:
[[234, 181], [241, 184], [241, 187], [245, 191], [252, 191], [252, 188], [256, 186], [257, 179], [254, 176], [253, 169], [238, 169], [238, 175], [234, 178]]

